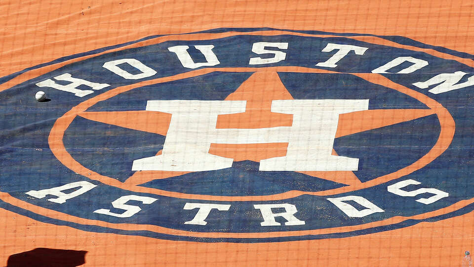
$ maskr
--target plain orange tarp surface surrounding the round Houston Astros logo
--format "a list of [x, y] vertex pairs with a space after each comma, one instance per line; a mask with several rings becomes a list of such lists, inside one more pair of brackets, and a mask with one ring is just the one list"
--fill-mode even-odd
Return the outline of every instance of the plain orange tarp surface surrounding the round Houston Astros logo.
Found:
[[[2, 0], [0, 14], [0, 76], [151, 35], [220, 27], [399, 35], [474, 54], [474, 2], [460, 0]], [[88, 251], [91, 267], [450, 267], [474, 248], [474, 213], [356, 237], [254, 244], [93, 233], [1, 209], [0, 223], [1, 266], [47, 247]]]

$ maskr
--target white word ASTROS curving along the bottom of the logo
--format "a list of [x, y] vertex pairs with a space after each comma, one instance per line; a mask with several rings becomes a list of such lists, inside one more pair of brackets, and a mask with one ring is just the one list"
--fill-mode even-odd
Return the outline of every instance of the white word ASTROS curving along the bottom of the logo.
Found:
[[[402, 197], [415, 197], [420, 194], [430, 193], [430, 197], [427, 198], [418, 198], [415, 201], [429, 205], [435, 203], [436, 201], [448, 197], [449, 194], [435, 188], [419, 188], [412, 191], [405, 191], [402, 188], [412, 184], [420, 184], [420, 182], [407, 179], [396, 182], [387, 186], [387, 191]], [[45, 198], [46, 196], [56, 196], [57, 198], [47, 199], [50, 202], [64, 204], [67, 200], [78, 197], [89, 190], [94, 189], [97, 185], [90, 183], [88, 181], [79, 181], [68, 183], [59, 187], [42, 189], [42, 190], [31, 190], [26, 192], [26, 194], [36, 197], [36, 198]], [[75, 189], [73, 192], [70, 192], [71, 189]], [[65, 193], [63, 191], [69, 191]], [[86, 195], [84, 195], [86, 196]], [[157, 198], [148, 197], [148, 196], [139, 196], [139, 195], [126, 195], [121, 196], [118, 199], [114, 200], [111, 204], [116, 210], [119, 210], [120, 213], [111, 212], [110, 209], [98, 209], [95, 211], [90, 211], [93, 213], [118, 217], [118, 218], [129, 218], [140, 212], [142, 209], [139, 206], [126, 204], [128, 201], [138, 201], [142, 204], [150, 205], [157, 201]], [[334, 204], [336, 208], [343, 212], [346, 216], [350, 218], [362, 218], [373, 213], [384, 212], [383, 209], [376, 206], [366, 198], [362, 196], [349, 195], [344, 197], [337, 198], [326, 198], [327, 201]], [[359, 210], [351, 204], [346, 203], [345, 201], [354, 201], [358, 205], [362, 206], [363, 209]], [[159, 205], [159, 204], [158, 204]], [[215, 203], [186, 203], [183, 207], [183, 210], [195, 210], [197, 213], [193, 220], [183, 222], [184, 224], [196, 224], [196, 225], [206, 225], [207, 222], [205, 219], [209, 216], [212, 210], [217, 211], [228, 211], [231, 208], [231, 204], [215, 204]], [[276, 217], [283, 217], [286, 222], [284, 225], [302, 225], [305, 224], [305, 221], [299, 220], [295, 214], [298, 212], [297, 207], [290, 203], [278, 203], [278, 204], [254, 204], [254, 209], [260, 210], [263, 222], [260, 223], [261, 226], [278, 226], [281, 223], [275, 221]], [[275, 213], [272, 209], [283, 209], [283, 212]]]

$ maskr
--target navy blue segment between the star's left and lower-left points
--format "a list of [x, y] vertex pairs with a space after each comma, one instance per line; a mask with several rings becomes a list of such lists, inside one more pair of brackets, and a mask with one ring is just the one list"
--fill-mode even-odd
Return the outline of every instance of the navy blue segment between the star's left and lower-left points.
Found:
[[131, 171], [135, 159], [155, 156], [163, 143], [164, 136], [159, 134], [81, 117], [75, 119], [64, 136], [67, 151], [84, 167], [122, 182], [135, 173]]

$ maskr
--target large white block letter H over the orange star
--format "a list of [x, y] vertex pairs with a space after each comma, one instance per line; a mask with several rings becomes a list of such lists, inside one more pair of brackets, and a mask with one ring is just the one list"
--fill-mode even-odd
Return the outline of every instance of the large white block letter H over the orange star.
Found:
[[291, 127], [216, 129], [217, 116], [245, 111], [246, 101], [153, 100], [146, 110], [171, 113], [161, 155], [137, 159], [133, 171], [210, 171], [234, 159], [209, 154], [211, 143], [288, 142], [286, 156], [260, 161], [260, 171], [356, 171], [358, 159], [334, 156], [339, 114], [368, 109], [368, 99], [274, 100], [272, 112], [293, 114]]

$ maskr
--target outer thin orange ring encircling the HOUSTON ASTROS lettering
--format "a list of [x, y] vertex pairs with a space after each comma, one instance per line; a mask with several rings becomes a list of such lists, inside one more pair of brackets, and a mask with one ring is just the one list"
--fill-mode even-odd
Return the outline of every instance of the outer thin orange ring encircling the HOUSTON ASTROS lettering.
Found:
[[[174, 40], [189, 40], [189, 41], [191, 41], [191, 40], [194, 40], [194, 39], [198, 39], [199, 37], [201, 38], [201, 40], [205, 39], [205, 38], [215, 39], [215, 38], [211, 38], [211, 36], [221, 36], [221, 37], [217, 37], [217, 38], [227, 37], [227, 36], [225, 36], [225, 34], [228, 34], [228, 33], [222, 33], [222, 34], [189, 34], [189, 35], [181, 35], [181, 36], [164, 36], [164, 37], [160, 37], [160, 38], [153, 39], [153, 40], [147, 40], [147, 41], [138, 42], [138, 43], [135, 43], [135, 44], [132, 44], [132, 45], [126, 45], [126, 46], [123, 46], [123, 47], [107, 50], [107, 51], [96, 53], [96, 54], [93, 54], [93, 55], [78, 57], [78, 58], [67, 60], [67, 61], [64, 61], [64, 62], [60, 62], [60, 63], [48, 65], [48, 66], [45, 66], [45, 67], [41, 67], [41, 68], [38, 68], [38, 69], [35, 69], [35, 70], [27, 71], [27, 72], [25, 72], [21, 75], [18, 75], [15, 78], [1, 84], [0, 85], [0, 92], [3, 91], [3, 90], [9, 89], [9, 88], [11, 88], [11, 87], [13, 87], [17, 84], [20, 84], [22, 82], [28, 81], [32, 78], [35, 78], [35, 77], [38, 77], [42, 74], [50, 72], [50, 71], [52, 71], [54, 69], [57, 69], [59, 67], [65, 66], [65, 65], [70, 64], [70, 63], [78, 62], [78, 61], [81, 61], [81, 60], [84, 60], [84, 59], [87, 59], [87, 58], [95, 57], [95, 56], [98, 56], [98, 55], [101, 55], [101, 54], [110, 53], [110, 52], [113, 52], [113, 51], [118, 51], [118, 50], [123, 50], [123, 49], [128, 49], [128, 48], [133, 48], [133, 47], [140, 47], [140, 46], [145, 46], [145, 45], [157, 44], [157, 43], [168, 41], [166, 39], [171, 39], [170, 37], [173, 37]], [[461, 58], [461, 57], [453, 56], [453, 55], [450, 55], [450, 54], [438, 52], [434, 49], [426, 49], [426, 48], [420, 48], [420, 47], [410, 46], [410, 45], [400, 45], [400, 44], [385, 40], [383, 38], [372, 37], [372, 36], [343, 37], [343, 36], [330, 36], [330, 35], [301, 34], [301, 33], [286, 32], [286, 31], [259, 31], [259, 32], [247, 32], [247, 33], [237, 32], [237, 33], [234, 33], [233, 35], [273, 36], [273, 35], [281, 35], [281, 34], [309, 36], [309, 37], [320, 37], [320, 38], [339, 37], [339, 38], [355, 39], [355, 40], [359, 40], [359, 41], [362, 41], [362, 42], [369, 42], [370, 41], [370, 43], [372, 43], [372, 44], [388, 45], [388, 46], [393, 46], [393, 47], [397, 47], [397, 48], [410, 49], [410, 50], [414, 50], [414, 51], [422, 51], [422, 52], [434, 55], [434, 56], [439, 57], [439, 58], [456, 60], [456, 61], [458, 61], [460, 63], [463, 63], [463, 64], [466, 64], [470, 67], [474, 67], [474, 61], [471, 60], [471, 59]], [[189, 38], [189, 37], [192, 37], [192, 38]], [[357, 76], [362, 75], [363, 76], [363, 74], [354, 74], [354, 75], [357, 75]], [[371, 75], [371, 74], [368, 74], [368, 75]], [[383, 76], [381, 76], [381, 77], [383, 77]], [[383, 77], [383, 78], [385, 78], [385, 77]], [[391, 82], [391, 81], [389, 80], [389, 82]], [[397, 85], [397, 84], [395, 84], [395, 85]], [[451, 119], [452, 119], [452, 117], [451, 117]], [[454, 121], [453, 121], [453, 123], [454, 123]], [[438, 141], [439, 141], [439, 138], [438, 138]], [[136, 227], [137, 226], [136, 224], [106, 223], [106, 222], [97, 221], [97, 220], [83, 219], [83, 218], [71, 216], [71, 215], [68, 215], [68, 214], [64, 214], [64, 213], [61, 213], [61, 212], [57, 212], [57, 211], [54, 211], [54, 210], [49, 210], [49, 209], [46, 209], [46, 208], [42, 208], [40, 206], [30, 204], [28, 202], [22, 201], [20, 199], [14, 198], [11, 195], [9, 195], [8, 193], [0, 192], [0, 199], [7, 202], [7, 203], [9, 203], [9, 204], [11, 204], [11, 205], [30, 210], [32, 212], [37, 212], [39, 214], [42, 213], [42, 214], [45, 214], [45, 216], [47, 216], [47, 217], [58, 219], [58, 220], [68, 221], [67, 219], [71, 218], [71, 219], [73, 219], [73, 220], [71, 220], [71, 222], [76, 222], [76, 223], [80, 223], [80, 224], [99, 225], [99, 226], [111, 227], [111, 228], [115, 227], [115, 228], [119, 228], [119, 229], [123, 229], [123, 230], [140, 230], [140, 229], [136, 229], [136, 228], [130, 229], [131, 227]], [[449, 212], [456, 211], [458, 209], [466, 207], [467, 205], [469, 205], [473, 202], [474, 202], [474, 198], [471, 198], [469, 200], [462, 200], [462, 201], [459, 201], [459, 202], [457, 202], [455, 204], [452, 204], [448, 207], [441, 208], [439, 210], [436, 210], [436, 211], [433, 211], [433, 212], [428, 212], [428, 213], [425, 213], [425, 214], [419, 214], [419, 215], [411, 216], [411, 217], [399, 217], [399, 216], [397, 216], [397, 217], [392, 217], [390, 219], [379, 221], [379, 222], [365, 223], [365, 224], [359, 224], [359, 225], [354, 225], [354, 226], [342, 226], [342, 227], [334, 227], [334, 228], [326, 228], [326, 229], [318, 229], [318, 230], [306, 230], [304, 232], [303, 231], [294, 231], [294, 232], [295, 233], [298, 232], [298, 233], [302, 233], [302, 234], [324, 234], [324, 233], [329, 233], [329, 231], [327, 231], [328, 229], [334, 229], [334, 230], [340, 229], [339, 232], [341, 232], [341, 231], [346, 231], [347, 232], [347, 231], [354, 231], [354, 230], [358, 230], [358, 229], [365, 229], [365, 228], [368, 228], [368, 227], [389, 225], [389, 224], [393, 224], [393, 223], [396, 223], [396, 222], [402, 222], [405, 219], [415, 219], [415, 220], [426, 219], [426, 218], [430, 218], [430, 217], [433, 217], [433, 216], [438, 216], [438, 215], [442, 215], [442, 214], [446, 214], [446, 213], [449, 213]], [[388, 222], [388, 221], [390, 221], [390, 222]], [[388, 222], [388, 223], [383, 223], [383, 222]], [[163, 233], [175, 234], [175, 235], [184, 235], [184, 236], [196, 236], [196, 237], [224, 237], [224, 238], [228, 237], [228, 238], [230, 238], [230, 237], [245, 237], [245, 235], [253, 234], [253, 233], [219, 233], [219, 232], [218, 233], [197, 233], [197, 232], [192, 232], [192, 231], [174, 230], [174, 229], [169, 229], [169, 228], [160, 227], [160, 226], [156, 226], [156, 225], [141, 224], [139, 226], [141, 226], [141, 228], [144, 229], [144, 230], [151, 230], [150, 227], [158, 227], [162, 230], [166, 229], [166, 231], [163, 231]], [[366, 227], [362, 228], [360, 226], [366, 226]], [[334, 232], [334, 231], [331, 231], [331, 232]], [[272, 236], [270, 235], [270, 234], [273, 234], [273, 233], [276, 233], [277, 234], [276, 236], [291, 236], [291, 235], [288, 235], [288, 232], [268, 232], [268, 233], [256, 233], [256, 234], [257, 235], [259, 234], [259, 236], [257, 238], [262, 238], [262, 237], [275, 236], [275, 235], [272, 235]], [[281, 233], [283, 233], [284, 235], [282, 235]]]

